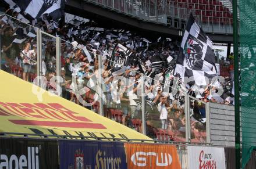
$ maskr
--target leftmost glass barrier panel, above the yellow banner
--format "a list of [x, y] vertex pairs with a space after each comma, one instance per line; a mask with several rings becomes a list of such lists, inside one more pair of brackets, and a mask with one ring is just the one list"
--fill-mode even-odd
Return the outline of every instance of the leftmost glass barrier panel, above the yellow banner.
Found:
[[23, 80], [37, 76], [37, 33], [29, 24], [1, 16], [1, 68]]

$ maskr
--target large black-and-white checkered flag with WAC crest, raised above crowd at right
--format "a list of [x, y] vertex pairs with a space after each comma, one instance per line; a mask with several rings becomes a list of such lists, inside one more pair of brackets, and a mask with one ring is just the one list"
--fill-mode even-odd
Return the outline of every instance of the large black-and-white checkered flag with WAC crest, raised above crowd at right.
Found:
[[212, 51], [212, 41], [191, 14], [180, 45], [174, 74], [181, 77], [183, 82], [184, 77], [194, 77], [196, 85], [207, 85], [211, 78], [216, 76], [214, 67], [215, 55]]

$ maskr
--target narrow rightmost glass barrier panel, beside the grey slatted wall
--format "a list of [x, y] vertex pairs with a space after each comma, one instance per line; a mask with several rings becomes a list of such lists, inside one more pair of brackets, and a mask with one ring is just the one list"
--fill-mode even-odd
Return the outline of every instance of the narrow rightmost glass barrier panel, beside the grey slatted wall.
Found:
[[189, 97], [190, 141], [193, 143], [207, 142], [205, 103]]

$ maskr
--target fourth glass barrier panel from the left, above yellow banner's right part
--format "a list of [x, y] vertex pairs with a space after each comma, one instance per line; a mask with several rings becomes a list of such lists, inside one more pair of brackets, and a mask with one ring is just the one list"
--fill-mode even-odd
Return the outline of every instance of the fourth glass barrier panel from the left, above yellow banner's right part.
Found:
[[103, 60], [104, 116], [142, 132], [140, 73]]

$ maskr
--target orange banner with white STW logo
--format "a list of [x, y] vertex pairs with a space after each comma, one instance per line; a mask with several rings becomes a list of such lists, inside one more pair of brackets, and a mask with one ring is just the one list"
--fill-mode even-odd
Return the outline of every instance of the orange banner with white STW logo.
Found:
[[125, 143], [129, 169], [180, 169], [175, 145]]

